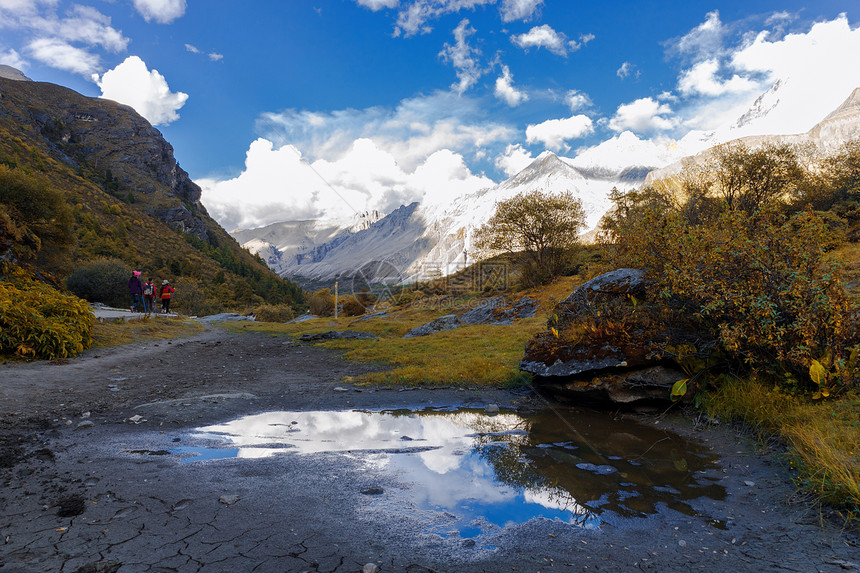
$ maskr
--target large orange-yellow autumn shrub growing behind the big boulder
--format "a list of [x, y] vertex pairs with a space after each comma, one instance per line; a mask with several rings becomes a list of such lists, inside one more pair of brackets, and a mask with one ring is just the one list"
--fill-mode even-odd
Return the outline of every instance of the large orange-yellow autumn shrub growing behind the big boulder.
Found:
[[856, 383], [857, 309], [813, 212], [726, 210], [713, 224], [689, 225], [650, 208], [615, 237], [613, 262], [645, 269], [664, 301], [685, 308], [739, 362], [791, 383], [810, 380], [817, 361], [829, 388]]

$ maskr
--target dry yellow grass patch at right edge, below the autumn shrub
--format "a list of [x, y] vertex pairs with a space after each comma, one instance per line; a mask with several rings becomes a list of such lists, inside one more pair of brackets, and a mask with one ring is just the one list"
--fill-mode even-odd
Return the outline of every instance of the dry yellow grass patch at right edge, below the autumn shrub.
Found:
[[811, 400], [756, 380], [735, 380], [709, 394], [712, 416], [739, 419], [787, 444], [798, 485], [860, 519], [860, 394]]

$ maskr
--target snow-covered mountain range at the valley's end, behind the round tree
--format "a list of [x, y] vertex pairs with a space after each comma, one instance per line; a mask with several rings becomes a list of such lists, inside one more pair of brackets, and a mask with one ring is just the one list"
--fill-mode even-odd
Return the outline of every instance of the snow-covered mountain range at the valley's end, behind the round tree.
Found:
[[237, 231], [234, 236], [282, 276], [329, 280], [359, 271], [370, 281], [427, 279], [470, 262], [472, 235], [493, 215], [499, 201], [532, 190], [570, 191], [582, 201], [591, 229], [609, 208], [612, 187], [635, 187], [653, 167], [587, 168], [583, 173], [545, 152], [499, 185], [447, 205], [404, 205], [365, 228], [337, 229], [301, 221]]

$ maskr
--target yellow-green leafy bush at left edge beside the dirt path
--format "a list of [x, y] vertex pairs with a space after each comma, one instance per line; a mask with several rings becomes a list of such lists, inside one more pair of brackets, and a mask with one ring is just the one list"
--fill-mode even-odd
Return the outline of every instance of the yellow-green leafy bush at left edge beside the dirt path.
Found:
[[10, 272], [14, 282], [0, 282], [0, 353], [55, 359], [90, 347], [94, 317], [86, 301]]

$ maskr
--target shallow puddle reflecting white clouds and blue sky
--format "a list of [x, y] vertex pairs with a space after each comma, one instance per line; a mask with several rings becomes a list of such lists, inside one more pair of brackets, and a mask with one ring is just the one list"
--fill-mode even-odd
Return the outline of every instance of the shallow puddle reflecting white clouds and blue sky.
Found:
[[444, 537], [536, 517], [594, 528], [660, 506], [690, 515], [688, 501], [725, 495], [703, 475], [715, 460], [703, 446], [574, 409], [269, 412], [198, 428], [170, 453], [183, 463], [348, 455], [404, 484], [369, 496], [374, 509], [435, 514], [428, 531]]

